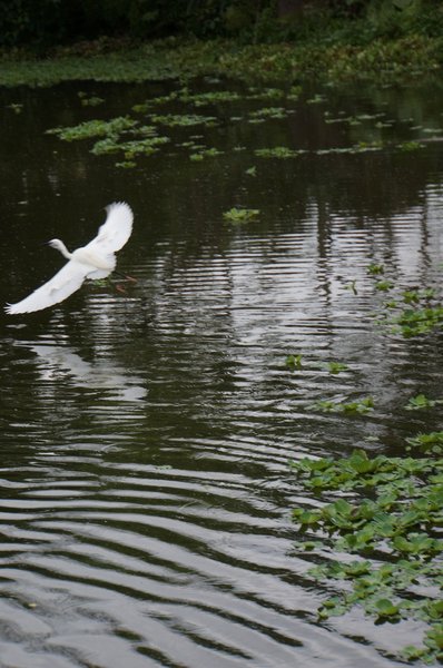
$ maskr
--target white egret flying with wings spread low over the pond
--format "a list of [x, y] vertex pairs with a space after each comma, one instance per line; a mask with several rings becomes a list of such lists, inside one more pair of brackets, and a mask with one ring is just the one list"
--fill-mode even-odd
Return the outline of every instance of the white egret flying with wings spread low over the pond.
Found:
[[86, 246], [69, 253], [60, 239], [48, 242], [49, 246], [60, 250], [69, 262], [28, 297], [17, 304], [7, 304], [7, 313], [41, 311], [69, 297], [86, 278], [106, 278], [114, 272], [115, 253], [125, 246], [132, 232], [132, 210], [125, 202], [116, 202], [107, 206], [106, 212], [107, 218], [98, 235]]

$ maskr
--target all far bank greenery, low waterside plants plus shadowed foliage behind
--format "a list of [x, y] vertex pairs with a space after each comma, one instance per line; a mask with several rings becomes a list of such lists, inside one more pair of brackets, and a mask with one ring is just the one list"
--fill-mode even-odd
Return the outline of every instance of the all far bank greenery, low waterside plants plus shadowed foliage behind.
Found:
[[[46, 19], [24, 1], [26, 16], [17, 24], [10, 21], [17, 12], [0, 18], [0, 85], [197, 76], [288, 86], [396, 84], [425, 73], [440, 77], [443, 66], [443, 6], [426, 0], [207, 0], [198, 7], [183, 1], [166, 12], [146, 0], [120, 3], [122, 13], [114, 22], [105, 20], [110, 14], [104, 8], [100, 14], [98, 2], [82, 18], [67, 14], [62, 32], [55, 31], [55, 3], [48, 3]], [[132, 6], [154, 9], [141, 20]]]

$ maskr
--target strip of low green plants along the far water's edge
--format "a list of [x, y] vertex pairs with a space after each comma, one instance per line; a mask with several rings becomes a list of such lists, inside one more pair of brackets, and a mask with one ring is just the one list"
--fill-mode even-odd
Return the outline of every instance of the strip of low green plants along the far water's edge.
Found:
[[318, 43], [242, 45], [235, 40], [210, 41], [167, 38], [146, 45], [110, 42], [79, 45], [52, 58], [28, 52], [3, 53], [0, 86], [52, 86], [69, 80], [155, 81], [218, 76], [246, 81], [309, 81], [341, 84], [406, 82], [435, 73], [441, 76], [443, 40], [406, 36], [377, 39], [370, 45]]

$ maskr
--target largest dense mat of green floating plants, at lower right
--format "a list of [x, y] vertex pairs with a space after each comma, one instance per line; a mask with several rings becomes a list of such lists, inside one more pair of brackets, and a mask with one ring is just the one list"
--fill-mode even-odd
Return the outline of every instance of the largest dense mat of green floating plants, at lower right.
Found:
[[[443, 444], [443, 432], [433, 443]], [[423, 449], [424, 434], [419, 448]], [[318, 618], [343, 615], [354, 606], [378, 622], [416, 619], [427, 625], [423, 646], [407, 646], [401, 657], [425, 662], [443, 659], [442, 583], [443, 460], [368, 458], [363, 450], [334, 460], [292, 462], [299, 483], [316, 494], [342, 494], [318, 508], [295, 508], [302, 534], [298, 546], [334, 558], [309, 570], [322, 582], [335, 583], [335, 596], [318, 608]], [[313, 540], [321, 537], [321, 540]], [[339, 553], [354, 553], [350, 561]], [[322, 557], [321, 557], [322, 556]], [[343, 582], [341, 590], [339, 583]], [[344, 583], [347, 583], [346, 586]]]

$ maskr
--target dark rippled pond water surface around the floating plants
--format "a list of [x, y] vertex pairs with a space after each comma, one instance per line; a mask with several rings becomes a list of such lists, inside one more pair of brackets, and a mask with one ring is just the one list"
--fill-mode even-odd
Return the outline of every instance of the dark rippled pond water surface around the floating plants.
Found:
[[[105, 105], [81, 107], [79, 89]], [[288, 460], [400, 454], [405, 438], [442, 429], [437, 412], [404, 410], [419, 392], [443, 394], [442, 336], [377, 326], [390, 295], [367, 266], [384, 264], [394, 292], [439, 289], [443, 95], [219, 104], [198, 110], [216, 127], [163, 128], [169, 144], [134, 169], [91, 155], [91, 141], [45, 135], [164, 92], [0, 91], [1, 302], [61, 266], [43, 242], [83, 245], [114, 200], [135, 213], [119, 268], [138, 279], [126, 294], [87, 284], [57, 307], [0, 315], [0, 665], [397, 665], [421, 640], [415, 622], [375, 627], [357, 610], [317, 621], [333, 590], [295, 547], [291, 508], [312, 499]], [[282, 105], [283, 118], [249, 122]], [[180, 145], [193, 136], [223, 154], [190, 160]], [[380, 150], [318, 154], [380, 139]], [[420, 150], [398, 148], [415, 139]], [[275, 146], [307, 153], [254, 154]], [[234, 225], [223, 218], [233, 206], [260, 214]], [[304, 369], [291, 371], [288, 354]], [[332, 375], [329, 361], [348, 370]], [[368, 395], [368, 415], [308, 407]]]

